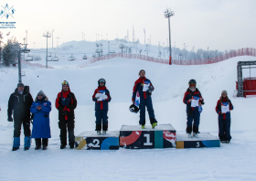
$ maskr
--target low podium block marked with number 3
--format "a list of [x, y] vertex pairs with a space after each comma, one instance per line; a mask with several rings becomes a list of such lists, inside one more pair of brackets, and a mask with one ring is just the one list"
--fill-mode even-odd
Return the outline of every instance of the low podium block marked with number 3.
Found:
[[198, 133], [198, 138], [188, 138], [187, 133], [176, 135], [176, 148], [220, 147], [219, 138], [210, 133]]

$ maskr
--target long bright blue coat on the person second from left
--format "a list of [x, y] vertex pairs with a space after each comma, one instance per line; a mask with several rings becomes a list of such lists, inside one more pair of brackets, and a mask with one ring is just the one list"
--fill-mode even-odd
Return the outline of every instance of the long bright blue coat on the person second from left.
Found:
[[[41, 110], [37, 110], [37, 106], [42, 106]], [[51, 103], [46, 97], [43, 101], [32, 103], [30, 112], [34, 114], [33, 130], [31, 138], [50, 138], [49, 112], [51, 111]]]

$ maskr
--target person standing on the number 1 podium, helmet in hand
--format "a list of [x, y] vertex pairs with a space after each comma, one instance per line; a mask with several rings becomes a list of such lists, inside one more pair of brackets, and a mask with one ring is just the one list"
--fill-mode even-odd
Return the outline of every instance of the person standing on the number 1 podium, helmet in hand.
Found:
[[[140, 78], [135, 81], [133, 86], [133, 104], [135, 101], [136, 93], [139, 91], [140, 94], [140, 124], [142, 125], [142, 128], [144, 129], [145, 124], [145, 107], [147, 108], [147, 112], [149, 115], [150, 123], [152, 124], [152, 128], [155, 128], [157, 125], [157, 121], [155, 120], [155, 113], [153, 109], [153, 103], [151, 99], [152, 91], [155, 90], [154, 86], [152, 85], [152, 82], [144, 77], [145, 71], [144, 69], [141, 69], [139, 72]], [[146, 87], [146, 88], [145, 88]]]

